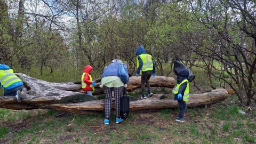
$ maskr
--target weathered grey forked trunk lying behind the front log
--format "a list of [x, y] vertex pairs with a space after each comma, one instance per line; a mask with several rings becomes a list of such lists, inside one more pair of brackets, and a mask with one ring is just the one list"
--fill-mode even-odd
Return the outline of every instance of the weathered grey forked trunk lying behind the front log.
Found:
[[[28, 91], [28, 97], [23, 98], [21, 103], [37, 105], [42, 103], [53, 104], [97, 100], [95, 97], [88, 97], [88, 95], [82, 91], [81, 82], [76, 84], [74, 84], [74, 82], [51, 83], [27, 76], [25, 74], [19, 73], [16, 75], [22, 79], [22, 82]], [[174, 87], [175, 85], [175, 80], [172, 77], [156, 76], [150, 79], [151, 86]], [[95, 88], [99, 89], [99, 85], [101, 84], [100, 79], [98, 79], [97, 82], [98, 83]], [[126, 90], [133, 91], [135, 89], [139, 89], [140, 87], [140, 77], [134, 76], [130, 77]], [[17, 102], [15, 97], [0, 97], [0, 103], [13, 102]]]

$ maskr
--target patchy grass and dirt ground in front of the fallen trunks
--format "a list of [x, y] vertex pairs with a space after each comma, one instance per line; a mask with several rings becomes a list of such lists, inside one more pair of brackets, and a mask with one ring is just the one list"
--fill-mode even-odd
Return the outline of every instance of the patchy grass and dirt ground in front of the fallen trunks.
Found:
[[[31, 113], [25, 129], [13, 131], [2, 126], [0, 137], [6, 140], [7, 134], [13, 133], [11, 143], [39, 143], [42, 140], [47, 140], [46, 143], [253, 143], [255, 121], [251, 119], [254, 115], [240, 117], [236, 113], [238, 109], [243, 110], [241, 107], [226, 105], [215, 105], [207, 109], [188, 108], [186, 123], [174, 121], [179, 108], [130, 113], [129, 118], [121, 124], [115, 124], [115, 113], [111, 113], [109, 126], [103, 125], [104, 114], [94, 116], [65, 113], [54, 117], [61, 111], [44, 110], [38, 111], [40, 115]], [[21, 121], [27, 121], [27, 112], [15, 113], [5, 116], [12, 115], [13, 119], [19, 117]], [[217, 114], [225, 115], [225, 118], [221, 119]], [[194, 123], [195, 119], [199, 123]], [[237, 142], [234, 138], [241, 140]]]

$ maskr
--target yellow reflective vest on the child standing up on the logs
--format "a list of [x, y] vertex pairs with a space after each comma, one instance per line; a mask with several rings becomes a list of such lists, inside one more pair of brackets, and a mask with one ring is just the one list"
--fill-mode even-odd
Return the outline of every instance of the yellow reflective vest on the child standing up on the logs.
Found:
[[[141, 68], [140, 74], [142, 74], [142, 71], [148, 71], [148, 70], [153, 70], [153, 60], [152, 60], [152, 56], [150, 54], [140, 54], [139, 55], [142, 62], [143, 62], [143, 66]], [[139, 59], [137, 57], [137, 68], [139, 68]]]

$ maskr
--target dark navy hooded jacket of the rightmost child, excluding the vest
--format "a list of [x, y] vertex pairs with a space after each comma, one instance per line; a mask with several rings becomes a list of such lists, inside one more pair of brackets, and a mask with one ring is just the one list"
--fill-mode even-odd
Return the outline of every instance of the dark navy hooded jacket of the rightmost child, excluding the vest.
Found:
[[[177, 76], [177, 83], [180, 84], [184, 79], [188, 79], [189, 77], [189, 71], [187, 68], [184, 68], [180, 71], [179, 76]], [[184, 92], [186, 90], [188, 82], [185, 82], [180, 85], [179, 92], [174, 95], [174, 100], [182, 100], [183, 99], [178, 99], [178, 94], [181, 93], [182, 97], [184, 95]]]

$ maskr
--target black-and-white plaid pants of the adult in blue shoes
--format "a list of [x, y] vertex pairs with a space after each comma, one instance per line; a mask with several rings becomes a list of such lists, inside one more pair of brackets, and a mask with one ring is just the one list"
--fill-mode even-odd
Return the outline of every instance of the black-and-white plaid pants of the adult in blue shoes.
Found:
[[105, 93], [105, 118], [110, 118], [111, 113], [111, 103], [112, 103], [112, 92], [114, 91], [115, 97], [115, 108], [116, 108], [116, 117], [120, 117], [120, 97], [123, 94], [124, 87], [107, 87], [103, 86], [103, 90]]

